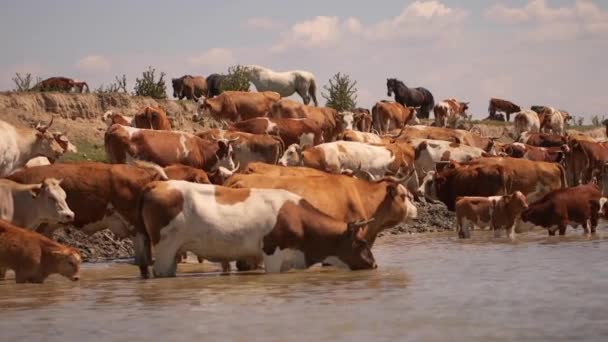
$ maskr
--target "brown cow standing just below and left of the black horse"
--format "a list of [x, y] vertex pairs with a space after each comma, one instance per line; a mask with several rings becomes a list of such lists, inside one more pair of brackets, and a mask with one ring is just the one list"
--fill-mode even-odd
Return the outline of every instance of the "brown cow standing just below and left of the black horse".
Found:
[[372, 107], [373, 128], [380, 134], [417, 124], [417, 120], [415, 108], [405, 107], [398, 102], [383, 100]]

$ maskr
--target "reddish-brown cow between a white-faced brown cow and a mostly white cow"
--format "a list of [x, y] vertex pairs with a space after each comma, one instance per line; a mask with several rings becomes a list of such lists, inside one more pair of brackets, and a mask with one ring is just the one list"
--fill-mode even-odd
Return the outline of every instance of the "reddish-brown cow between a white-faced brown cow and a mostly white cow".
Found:
[[[196, 134], [199, 138], [230, 142], [232, 160], [241, 168], [247, 167], [251, 162], [264, 162], [276, 164], [281, 157], [285, 146], [280, 137], [268, 134], [251, 134], [245, 132], [223, 131], [209, 129]], [[219, 140], [218, 140], [219, 139]], [[234, 169], [223, 163], [227, 169]]]

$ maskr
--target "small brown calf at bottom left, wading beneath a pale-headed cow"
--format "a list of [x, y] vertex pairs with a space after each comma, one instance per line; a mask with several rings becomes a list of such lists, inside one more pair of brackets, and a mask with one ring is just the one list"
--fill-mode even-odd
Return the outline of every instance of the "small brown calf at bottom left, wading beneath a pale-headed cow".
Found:
[[10, 269], [17, 283], [42, 283], [55, 273], [78, 280], [81, 260], [76, 249], [0, 220], [0, 279]]

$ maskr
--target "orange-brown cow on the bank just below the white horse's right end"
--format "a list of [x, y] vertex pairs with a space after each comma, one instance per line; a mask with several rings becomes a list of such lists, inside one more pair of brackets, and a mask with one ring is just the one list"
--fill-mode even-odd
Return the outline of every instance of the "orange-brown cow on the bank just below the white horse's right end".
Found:
[[329, 107], [307, 106], [302, 103], [283, 99], [272, 105], [270, 117], [302, 119], [310, 118], [314, 120], [323, 131], [325, 142], [334, 141], [344, 128], [342, 121], [338, 117], [338, 112]]

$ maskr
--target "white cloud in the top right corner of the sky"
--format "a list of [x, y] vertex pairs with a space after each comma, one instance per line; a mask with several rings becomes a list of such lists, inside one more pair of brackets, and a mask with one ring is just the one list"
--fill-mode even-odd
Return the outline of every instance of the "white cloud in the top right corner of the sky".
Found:
[[523, 7], [496, 4], [485, 17], [503, 24], [526, 23], [526, 40], [565, 41], [608, 34], [608, 11], [589, 0], [577, 0], [570, 6], [550, 7], [546, 0], [532, 0]]

